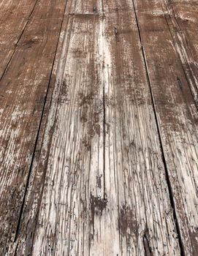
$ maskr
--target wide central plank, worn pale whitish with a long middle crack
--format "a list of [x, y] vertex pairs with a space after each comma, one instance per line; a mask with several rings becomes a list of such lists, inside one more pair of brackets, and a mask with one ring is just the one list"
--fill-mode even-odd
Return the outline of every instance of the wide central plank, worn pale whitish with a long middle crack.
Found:
[[67, 6], [43, 144], [10, 252], [180, 255], [132, 1], [94, 6]]

